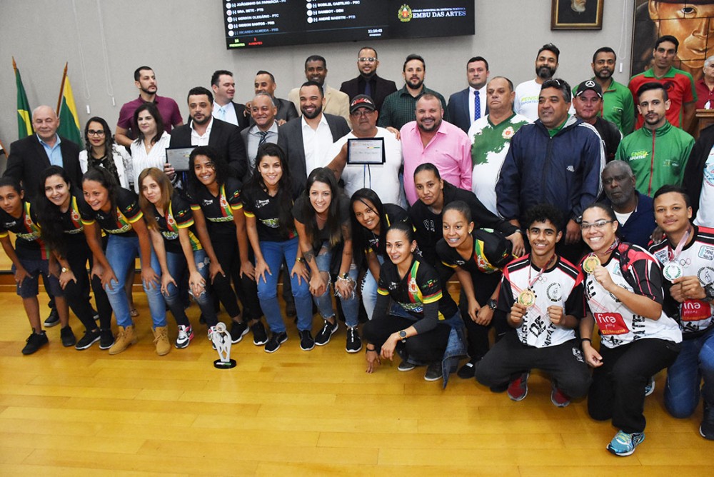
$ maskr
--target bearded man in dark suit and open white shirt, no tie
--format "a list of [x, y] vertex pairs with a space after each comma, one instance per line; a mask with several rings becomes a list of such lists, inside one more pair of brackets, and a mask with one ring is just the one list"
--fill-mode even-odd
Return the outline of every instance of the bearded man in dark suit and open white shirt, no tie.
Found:
[[327, 157], [332, 143], [347, 134], [350, 126], [343, 117], [322, 112], [325, 96], [319, 83], [306, 81], [298, 94], [303, 115], [281, 126], [278, 146], [288, 156], [293, 184], [304, 187], [313, 169], [333, 159]]

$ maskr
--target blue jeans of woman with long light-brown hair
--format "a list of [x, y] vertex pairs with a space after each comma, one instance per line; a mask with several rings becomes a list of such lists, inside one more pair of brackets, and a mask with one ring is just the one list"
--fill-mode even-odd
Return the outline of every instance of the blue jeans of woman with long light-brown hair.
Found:
[[[193, 261], [196, 263], [196, 268], [198, 273], [201, 273], [203, 280], [206, 280], [206, 286], [210, 282], [208, 278], [208, 255], [205, 250], [194, 250], [193, 251]], [[186, 271], [188, 264], [186, 263], [186, 256], [183, 253], [171, 253], [166, 252], [166, 266], [169, 268], [169, 273], [174, 277], [174, 280], [178, 283]], [[181, 300], [181, 293], [178, 292], [178, 288], [174, 286], [174, 283], [169, 283], [166, 289], [167, 293], [164, 295], [166, 304], [171, 310], [171, 314], [176, 318], [176, 324], [188, 326], [191, 323], [188, 322], [188, 317], [186, 317], [186, 311], [183, 309], [183, 301]], [[207, 290], [204, 290], [200, 296], [193, 297], [198, 303], [198, 308], [201, 308], [201, 313], [203, 313], [203, 318], [206, 318], [206, 326], [216, 326], [218, 323], [218, 316], [216, 316], [216, 308], [213, 307], [213, 298]]]

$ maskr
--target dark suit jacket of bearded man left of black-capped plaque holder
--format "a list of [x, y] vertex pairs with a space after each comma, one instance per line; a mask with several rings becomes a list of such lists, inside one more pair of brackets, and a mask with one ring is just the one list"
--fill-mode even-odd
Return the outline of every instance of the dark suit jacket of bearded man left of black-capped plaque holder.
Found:
[[[330, 126], [333, 142], [350, 131], [350, 126], [347, 125], [347, 121], [342, 116], [325, 114], [325, 119]], [[280, 126], [280, 134], [278, 134], [278, 146], [281, 146], [288, 156], [290, 176], [293, 185], [298, 188], [304, 188], [305, 182], [308, 180], [308, 174], [305, 170], [305, 146], [303, 144], [302, 125], [303, 121], [300, 118], [293, 119]]]

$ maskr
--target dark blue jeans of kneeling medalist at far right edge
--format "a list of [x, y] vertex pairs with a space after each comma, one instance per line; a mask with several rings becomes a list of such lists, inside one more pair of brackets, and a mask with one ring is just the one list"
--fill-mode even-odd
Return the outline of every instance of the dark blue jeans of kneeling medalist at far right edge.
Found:
[[691, 416], [699, 404], [699, 385], [705, 403], [714, 406], [714, 328], [698, 338], [682, 341], [682, 351], [667, 368], [665, 407], [675, 418]]

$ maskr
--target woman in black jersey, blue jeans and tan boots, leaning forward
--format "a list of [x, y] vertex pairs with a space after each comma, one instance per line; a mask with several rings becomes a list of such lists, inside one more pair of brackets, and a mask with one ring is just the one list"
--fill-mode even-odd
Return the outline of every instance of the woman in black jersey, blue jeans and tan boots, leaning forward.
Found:
[[[171, 346], [166, 330], [166, 303], [161, 296], [161, 268], [151, 251], [151, 239], [138, 197], [133, 191], [119, 187], [114, 176], [101, 167], [84, 174], [82, 189], [84, 199], [79, 201], [78, 198], [77, 205], [87, 243], [94, 255], [92, 274], [101, 278], [119, 325], [109, 354], [121, 353], [137, 341], [124, 289], [126, 275], [130, 268], [134, 268], [136, 256], [141, 258], [141, 283], [149, 300], [156, 353], [160, 356], [169, 353]], [[106, 251], [101, 247], [98, 227], [109, 236]]]

